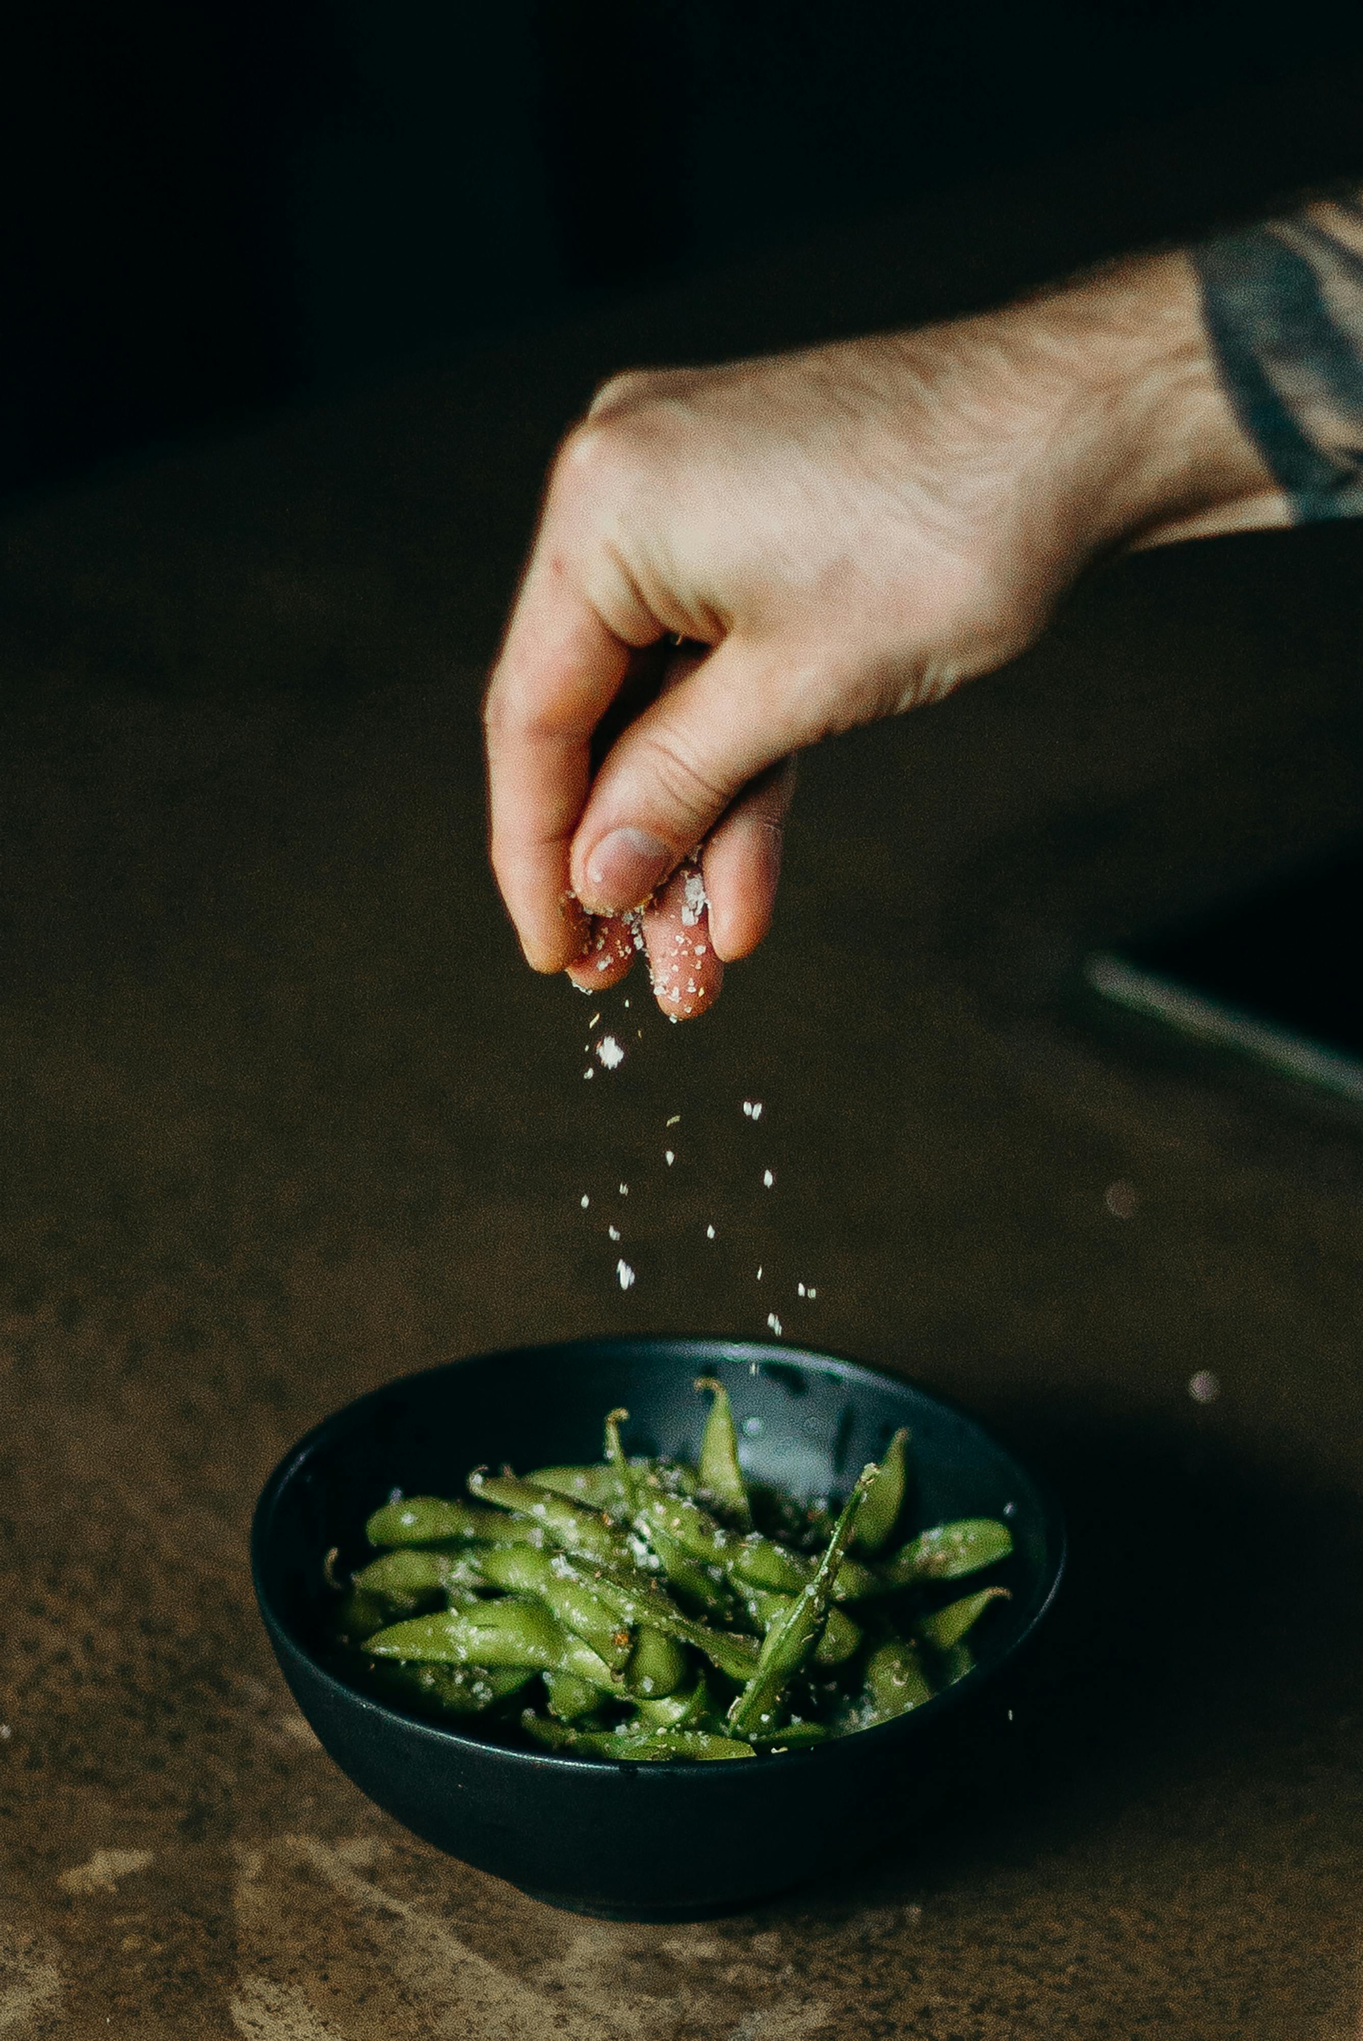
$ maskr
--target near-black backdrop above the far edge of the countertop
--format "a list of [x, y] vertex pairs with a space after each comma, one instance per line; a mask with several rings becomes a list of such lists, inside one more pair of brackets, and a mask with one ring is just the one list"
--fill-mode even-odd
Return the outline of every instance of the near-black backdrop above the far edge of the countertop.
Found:
[[0, 494], [1094, 135], [1230, 122], [1253, 208], [1363, 165], [1361, 63], [1302, 8], [49, 0], [0, 67]]

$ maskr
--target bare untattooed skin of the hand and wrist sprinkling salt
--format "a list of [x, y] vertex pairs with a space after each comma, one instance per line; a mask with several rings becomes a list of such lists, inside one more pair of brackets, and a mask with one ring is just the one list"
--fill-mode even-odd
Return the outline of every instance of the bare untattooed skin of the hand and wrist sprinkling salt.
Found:
[[[549, 476], [486, 704], [492, 863], [528, 963], [614, 984], [614, 916], [651, 902], [659, 1004], [702, 1012], [771, 920], [802, 749], [1004, 665], [1104, 555], [1288, 520], [1181, 253], [916, 333], [608, 382]], [[594, 769], [653, 645], [661, 692]]]

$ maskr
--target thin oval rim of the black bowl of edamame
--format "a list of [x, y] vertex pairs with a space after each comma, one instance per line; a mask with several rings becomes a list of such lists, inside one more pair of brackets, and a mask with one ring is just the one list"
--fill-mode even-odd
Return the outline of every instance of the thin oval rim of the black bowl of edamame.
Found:
[[577, 1339], [551, 1339], [537, 1341], [535, 1345], [520, 1347], [490, 1347], [477, 1353], [465, 1353], [457, 1359], [435, 1361], [431, 1367], [416, 1367], [404, 1376], [392, 1376], [388, 1382], [380, 1382], [371, 1390], [363, 1390], [353, 1396], [347, 1404], [331, 1410], [324, 1418], [312, 1425], [273, 1465], [265, 1484], [257, 1496], [255, 1508], [251, 1512], [251, 1584], [255, 1588], [255, 1600], [261, 1621], [275, 1643], [288, 1645], [288, 1649], [306, 1661], [310, 1674], [320, 1680], [339, 1700], [345, 1704], [359, 1704], [363, 1710], [380, 1716], [382, 1721], [402, 1725], [408, 1731], [422, 1731], [433, 1737], [437, 1745], [453, 1745], [459, 1751], [477, 1753], [488, 1759], [512, 1759], [522, 1765], [553, 1765], [555, 1770], [571, 1768], [573, 1772], [600, 1778], [604, 1770], [649, 1774], [657, 1778], [712, 1778], [724, 1774], [726, 1765], [716, 1765], [704, 1759], [673, 1757], [663, 1765], [641, 1765], [628, 1757], [577, 1757], [569, 1751], [551, 1749], [518, 1749], [514, 1743], [492, 1743], [486, 1737], [469, 1735], [459, 1729], [451, 1729], [445, 1723], [433, 1721], [428, 1716], [406, 1714], [402, 1708], [380, 1700], [373, 1694], [365, 1694], [363, 1688], [351, 1686], [335, 1674], [322, 1659], [304, 1643], [294, 1625], [275, 1608], [271, 1596], [265, 1588], [265, 1553], [269, 1549], [269, 1533], [273, 1525], [273, 1512], [280, 1506], [284, 1492], [290, 1482], [302, 1474], [312, 1453], [331, 1439], [341, 1429], [351, 1429], [363, 1423], [363, 1414], [369, 1406], [384, 1402], [396, 1390], [414, 1388], [435, 1376], [449, 1376], [459, 1367], [469, 1367], [473, 1363], [492, 1361], [512, 1361], [512, 1359], [541, 1359], [553, 1355], [555, 1359], [571, 1359], [573, 1355], [610, 1355], [618, 1351], [628, 1353], [635, 1359], [657, 1357], [657, 1359], [677, 1359], [684, 1351], [688, 1355], [698, 1355], [704, 1359], [730, 1359], [749, 1361], [757, 1367], [763, 1365], [818, 1365], [830, 1370], [845, 1380], [865, 1378], [875, 1384], [886, 1384], [888, 1388], [912, 1390], [914, 1396], [922, 1396], [926, 1402], [949, 1410], [953, 1416], [963, 1418], [981, 1439], [994, 1447], [1004, 1459], [1008, 1459], [1026, 1484], [1032, 1488], [1037, 1502], [1041, 1504], [1041, 1521], [1047, 1535], [1047, 1547], [1053, 1551], [1051, 1576], [1045, 1582], [1045, 1592], [1032, 1608], [1030, 1619], [1012, 1639], [1012, 1643], [1000, 1651], [1000, 1655], [983, 1665], [971, 1667], [961, 1680], [955, 1680], [941, 1694], [932, 1694], [920, 1706], [896, 1714], [888, 1723], [877, 1723], [873, 1729], [859, 1729], [847, 1737], [828, 1737], [826, 1743], [806, 1745], [804, 1749], [786, 1751], [757, 1751], [755, 1757], [743, 1759], [745, 1774], [753, 1765], [786, 1763], [792, 1759], [804, 1763], [826, 1763], [832, 1753], [847, 1753], [849, 1745], [859, 1751], [867, 1751], [869, 1745], [863, 1739], [877, 1739], [881, 1745], [890, 1737], [916, 1735], [918, 1725], [926, 1721], [943, 1721], [953, 1710], [959, 1710], [971, 1696], [977, 1696], [992, 1680], [996, 1680], [1018, 1655], [1030, 1645], [1037, 1635], [1039, 1625], [1051, 1612], [1055, 1596], [1059, 1594], [1065, 1570], [1069, 1563], [1069, 1533], [1065, 1527], [1063, 1510], [1049, 1486], [1032, 1470], [1018, 1459], [1010, 1445], [996, 1437], [996, 1433], [983, 1425], [973, 1410], [957, 1402], [953, 1396], [941, 1396], [937, 1390], [924, 1388], [910, 1376], [896, 1374], [890, 1367], [875, 1367], [869, 1361], [859, 1361], [853, 1355], [828, 1353], [822, 1347], [796, 1347], [790, 1341], [777, 1339], [720, 1339], [716, 1335], [688, 1335], [688, 1333], [606, 1333], [600, 1337], [579, 1335]]

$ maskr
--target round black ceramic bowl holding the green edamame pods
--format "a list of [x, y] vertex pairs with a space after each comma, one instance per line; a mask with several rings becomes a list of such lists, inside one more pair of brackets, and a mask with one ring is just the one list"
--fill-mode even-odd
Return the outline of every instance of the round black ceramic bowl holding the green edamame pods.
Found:
[[[373, 1700], [333, 1670], [322, 1555], [367, 1553], [363, 1523], [406, 1494], [459, 1494], [475, 1465], [600, 1457], [626, 1404], [630, 1451], [694, 1459], [706, 1398], [730, 1392], [749, 1472], [800, 1498], [847, 1490], [908, 1425], [922, 1525], [1006, 1516], [1012, 1600], [981, 1631], [973, 1674], [912, 1714], [806, 1751], [741, 1763], [633, 1765], [510, 1749]], [[280, 1667], [326, 1751], [416, 1835], [579, 1912], [679, 1921], [818, 1876], [886, 1827], [912, 1825], [971, 1739], [1002, 1714], [1002, 1674], [1055, 1594], [1055, 1506], [963, 1410], [894, 1376], [794, 1347], [594, 1339], [484, 1353], [406, 1376], [308, 1433], [265, 1484], [251, 1533], [255, 1592]]]

